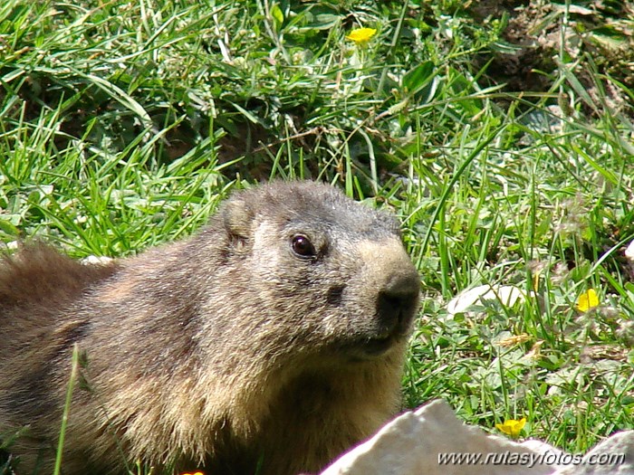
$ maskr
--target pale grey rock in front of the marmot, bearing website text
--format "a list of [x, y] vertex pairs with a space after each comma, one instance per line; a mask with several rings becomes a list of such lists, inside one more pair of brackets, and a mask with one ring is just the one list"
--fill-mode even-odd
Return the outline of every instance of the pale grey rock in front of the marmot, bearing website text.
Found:
[[322, 472], [344, 474], [634, 475], [634, 431], [616, 433], [581, 457], [544, 442], [488, 435], [434, 401], [400, 415]]

